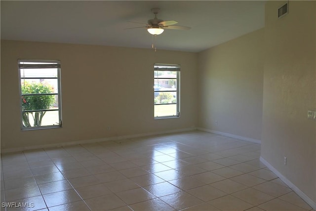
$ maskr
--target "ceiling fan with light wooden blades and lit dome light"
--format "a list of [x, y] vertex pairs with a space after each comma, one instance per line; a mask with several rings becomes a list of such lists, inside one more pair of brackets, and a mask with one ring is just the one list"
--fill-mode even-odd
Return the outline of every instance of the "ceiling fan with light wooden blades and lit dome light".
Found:
[[163, 20], [158, 19], [157, 14], [159, 10], [160, 10], [159, 8], [152, 8], [152, 12], [155, 14], [155, 18], [148, 20], [147, 24], [128, 21], [130, 23], [145, 24], [146, 26], [133, 27], [133, 28], [128, 28], [128, 29], [147, 28], [147, 31], [152, 35], [160, 35], [164, 31], [164, 29], [177, 29], [177, 30], [191, 29], [190, 27], [187, 27], [187, 26], [173, 26], [174, 24], [178, 23], [177, 21], [174, 21], [174, 20], [163, 21]]

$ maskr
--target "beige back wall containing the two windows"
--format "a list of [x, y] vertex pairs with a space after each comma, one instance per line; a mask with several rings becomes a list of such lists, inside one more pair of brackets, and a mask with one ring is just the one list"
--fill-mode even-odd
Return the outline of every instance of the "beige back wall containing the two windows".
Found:
[[[61, 61], [62, 128], [21, 131], [17, 59]], [[156, 62], [181, 65], [180, 118], [154, 120]], [[1, 149], [196, 127], [196, 72], [196, 53], [1, 41]]]

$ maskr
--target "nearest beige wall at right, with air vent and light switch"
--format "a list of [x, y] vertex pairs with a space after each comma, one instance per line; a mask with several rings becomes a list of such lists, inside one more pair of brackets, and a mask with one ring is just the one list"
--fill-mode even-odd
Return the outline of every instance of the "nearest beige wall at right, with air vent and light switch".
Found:
[[278, 19], [283, 3], [266, 4], [261, 156], [316, 202], [316, 1], [289, 1]]

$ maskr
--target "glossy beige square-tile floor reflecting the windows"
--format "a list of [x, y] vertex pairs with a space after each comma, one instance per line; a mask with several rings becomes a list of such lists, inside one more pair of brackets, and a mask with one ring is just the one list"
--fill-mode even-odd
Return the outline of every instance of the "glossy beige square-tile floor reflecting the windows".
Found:
[[189, 131], [1, 155], [1, 203], [41, 211], [312, 211], [260, 144]]

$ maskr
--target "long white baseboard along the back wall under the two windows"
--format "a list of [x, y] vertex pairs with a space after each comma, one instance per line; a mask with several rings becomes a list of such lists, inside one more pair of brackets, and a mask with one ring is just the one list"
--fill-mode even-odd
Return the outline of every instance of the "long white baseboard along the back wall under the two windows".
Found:
[[117, 140], [123, 140], [123, 139], [128, 139], [128, 138], [137, 138], [137, 137], [144, 137], [144, 136], [150, 136], [150, 135], [162, 135], [162, 134], [184, 132], [184, 131], [190, 131], [190, 130], [197, 130], [197, 128], [190, 127], [190, 128], [183, 128], [183, 129], [164, 130], [164, 131], [158, 131], [158, 132], [148, 132], [148, 133], [140, 133], [140, 134], [132, 134], [132, 135], [113, 136], [113, 137], [96, 138], [96, 139], [79, 140], [79, 141], [68, 141], [68, 142], [61, 142], [61, 143], [54, 143], [54, 144], [41, 144], [41, 145], [34, 145], [34, 146], [15, 147], [15, 148], [1, 149], [1, 153], [21, 152], [25, 150], [43, 149], [43, 148], [51, 148], [51, 147], [63, 147], [63, 146], [71, 146], [71, 145], [77, 145], [77, 144], [89, 144], [89, 143], [96, 143], [96, 142], [102, 142], [102, 141], [117, 141]]

